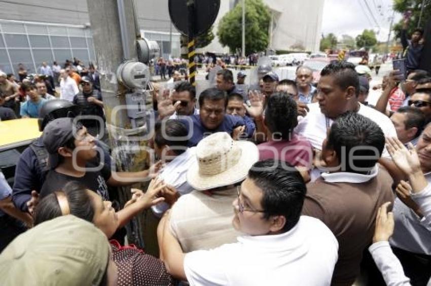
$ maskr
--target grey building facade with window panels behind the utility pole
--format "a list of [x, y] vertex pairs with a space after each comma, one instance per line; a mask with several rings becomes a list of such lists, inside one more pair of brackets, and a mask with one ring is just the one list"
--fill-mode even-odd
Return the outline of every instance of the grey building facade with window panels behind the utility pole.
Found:
[[[180, 56], [180, 34], [170, 22], [168, 0], [135, 1], [141, 34], [157, 41], [165, 58]], [[76, 57], [96, 62], [87, 0], [2, 2], [0, 69], [35, 73], [42, 61], [63, 64]]]

